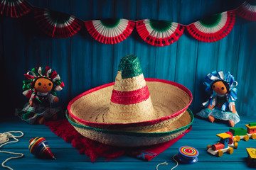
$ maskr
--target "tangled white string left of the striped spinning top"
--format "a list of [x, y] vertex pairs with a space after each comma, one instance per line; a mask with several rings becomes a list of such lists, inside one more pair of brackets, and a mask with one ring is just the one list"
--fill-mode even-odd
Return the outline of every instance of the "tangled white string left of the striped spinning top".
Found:
[[[19, 136], [15, 136], [15, 135], [12, 135], [11, 133], [21, 133], [21, 135]], [[4, 145], [7, 145], [9, 143], [16, 143], [18, 142], [18, 137], [23, 137], [23, 132], [21, 131], [9, 131], [9, 132], [4, 132], [4, 133], [0, 133], [0, 149], [1, 147], [3, 147]], [[16, 138], [17, 137], [17, 138]], [[10, 138], [13, 138], [14, 140], [12, 141], [9, 141]], [[1, 166], [3, 166], [4, 168], [6, 169], [10, 169], [10, 170], [14, 170], [12, 169], [11, 167], [9, 166], [6, 166], [4, 165], [6, 162], [8, 162], [10, 159], [18, 159], [18, 158], [21, 158], [24, 156], [24, 154], [21, 154], [21, 153], [15, 153], [15, 152], [7, 152], [7, 151], [1, 151], [0, 150], [0, 153], [5, 153], [5, 154], [16, 154], [16, 155], [19, 155], [18, 157], [9, 157], [8, 159], [6, 159], [4, 162], [1, 163]]]

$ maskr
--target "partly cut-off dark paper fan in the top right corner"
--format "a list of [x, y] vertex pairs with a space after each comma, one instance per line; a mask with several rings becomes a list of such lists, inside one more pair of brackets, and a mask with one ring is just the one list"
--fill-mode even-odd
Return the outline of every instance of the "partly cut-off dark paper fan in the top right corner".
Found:
[[249, 21], [256, 21], [256, 1], [245, 1], [236, 9], [236, 13]]

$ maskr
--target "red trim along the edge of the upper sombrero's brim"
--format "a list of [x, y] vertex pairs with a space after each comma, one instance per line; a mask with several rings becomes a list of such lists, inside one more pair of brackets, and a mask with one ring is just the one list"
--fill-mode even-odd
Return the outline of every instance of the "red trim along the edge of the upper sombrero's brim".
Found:
[[104, 84], [102, 86], [97, 86], [93, 89], [90, 89], [88, 91], [85, 91], [84, 93], [80, 94], [79, 96], [76, 96], [75, 98], [73, 98], [70, 103], [68, 103], [68, 113], [70, 114], [70, 116], [72, 118], [74, 118], [75, 120], [78, 120], [78, 122], [93, 127], [93, 128], [129, 128], [129, 127], [141, 127], [141, 126], [148, 126], [148, 125], [154, 125], [157, 123], [161, 123], [164, 120], [169, 120], [171, 118], [175, 118], [176, 116], [180, 115], [181, 113], [185, 112], [188, 109], [188, 106], [191, 105], [192, 100], [193, 100], [193, 96], [191, 94], [191, 91], [189, 91], [185, 86], [178, 84], [174, 81], [168, 81], [168, 80], [164, 80], [164, 79], [151, 79], [151, 78], [145, 78], [146, 81], [156, 81], [156, 82], [161, 82], [161, 83], [165, 83], [165, 84], [171, 84], [173, 86], [178, 87], [179, 89], [185, 91], [186, 94], [188, 94], [190, 101], [188, 103], [187, 106], [185, 106], [183, 109], [181, 109], [180, 111], [172, 114], [172, 115], [167, 115], [164, 118], [159, 118], [156, 120], [149, 120], [149, 121], [143, 121], [143, 122], [139, 122], [139, 123], [95, 123], [95, 122], [90, 122], [87, 120], [82, 120], [81, 118], [78, 118], [77, 116], [73, 115], [73, 113], [71, 113], [70, 108], [72, 106], [72, 104], [77, 101], [79, 98], [81, 98], [82, 96], [86, 96], [87, 94], [91, 94], [94, 91], [98, 91], [100, 89], [104, 89], [108, 86], [113, 86], [114, 82], [109, 83], [109, 84]]

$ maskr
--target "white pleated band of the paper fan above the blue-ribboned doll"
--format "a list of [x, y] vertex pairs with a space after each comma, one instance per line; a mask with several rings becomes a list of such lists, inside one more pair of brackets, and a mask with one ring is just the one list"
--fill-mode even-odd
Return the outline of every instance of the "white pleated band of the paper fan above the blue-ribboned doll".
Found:
[[228, 13], [227, 12], [223, 12], [223, 13], [221, 13], [220, 17], [221, 17], [220, 18], [220, 22], [217, 24], [217, 26], [214, 26], [214, 27], [209, 27], [208, 28], [206, 26], [203, 26], [199, 21], [194, 23], [194, 25], [195, 25], [195, 27], [198, 30], [200, 30], [203, 33], [216, 33], [216, 32], [218, 32], [219, 30], [221, 30], [225, 26], [225, 23], [228, 20]]

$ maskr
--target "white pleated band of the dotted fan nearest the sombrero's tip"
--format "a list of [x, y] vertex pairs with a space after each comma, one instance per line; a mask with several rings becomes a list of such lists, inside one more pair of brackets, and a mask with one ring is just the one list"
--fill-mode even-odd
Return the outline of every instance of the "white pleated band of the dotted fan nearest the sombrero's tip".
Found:
[[146, 30], [149, 32], [149, 35], [156, 38], [169, 38], [178, 28], [178, 23], [172, 22], [171, 28], [169, 30], [166, 30], [164, 32], [159, 32], [151, 28], [149, 22], [150, 22], [149, 19], [146, 19], [144, 20], [143, 23], [145, 24]]

